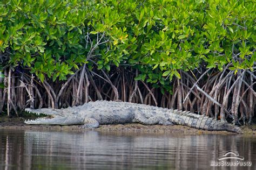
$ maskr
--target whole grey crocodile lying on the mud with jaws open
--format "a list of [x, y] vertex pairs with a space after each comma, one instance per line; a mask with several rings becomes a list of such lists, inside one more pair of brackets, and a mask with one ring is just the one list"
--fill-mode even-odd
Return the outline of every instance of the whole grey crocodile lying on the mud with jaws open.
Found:
[[185, 125], [191, 128], [215, 131], [224, 130], [241, 133], [238, 126], [225, 121], [193, 114], [190, 111], [181, 111], [151, 105], [117, 102], [95, 101], [65, 109], [30, 109], [26, 112], [44, 114], [46, 117], [27, 120], [25, 124], [42, 125], [79, 125], [82, 128], [95, 129], [100, 124], [140, 123], [144, 125]]

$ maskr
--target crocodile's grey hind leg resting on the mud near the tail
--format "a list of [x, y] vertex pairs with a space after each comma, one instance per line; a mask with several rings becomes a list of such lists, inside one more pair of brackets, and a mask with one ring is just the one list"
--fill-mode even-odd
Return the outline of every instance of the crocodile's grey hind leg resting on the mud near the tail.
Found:
[[140, 115], [140, 116], [134, 117], [133, 122], [141, 123], [144, 125], [156, 125], [156, 124], [173, 125], [173, 123], [165, 120], [164, 118], [157, 117], [157, 116], [152, 116], [152, 117], [146, 118], [145, 116]]

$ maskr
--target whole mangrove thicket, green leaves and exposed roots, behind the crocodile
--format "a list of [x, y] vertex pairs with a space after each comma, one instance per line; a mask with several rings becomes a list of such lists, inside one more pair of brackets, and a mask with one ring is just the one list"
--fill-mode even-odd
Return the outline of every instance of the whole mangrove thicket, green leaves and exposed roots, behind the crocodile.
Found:
[[255, 112], [255, 2], [0, 2], [0, 111], [122, 100]]

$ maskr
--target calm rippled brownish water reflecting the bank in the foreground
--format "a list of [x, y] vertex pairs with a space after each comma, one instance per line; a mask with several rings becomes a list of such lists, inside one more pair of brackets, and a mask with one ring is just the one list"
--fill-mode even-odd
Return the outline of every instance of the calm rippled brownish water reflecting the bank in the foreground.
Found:
[[226, 151], [256, 169], [256, 138], [220, 134], [151, 134], [0, 130], [0, 169], [227, 169], [211, 167]]

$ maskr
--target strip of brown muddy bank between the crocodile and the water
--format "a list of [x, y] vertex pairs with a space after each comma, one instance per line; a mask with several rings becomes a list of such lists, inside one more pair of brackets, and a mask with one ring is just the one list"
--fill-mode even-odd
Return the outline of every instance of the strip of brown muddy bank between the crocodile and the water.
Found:
[[[26, 125], [23, 117], [0, 117], [0, 129], [24, 129], [24, 130], [60, 130], [60, 131], [84, 131], [81, 125]], [[244, 134], [256, 134], [256, 125], [241, 127]], [[146, 126], [138, 123], [100, 125], [96, 131], [122, 131], [122, 132], [154, 132], [154, 133], [186, 133], [186, 134], [232, 134], [226, 131], [205, 131], [187, 126], [151, 125]]]

